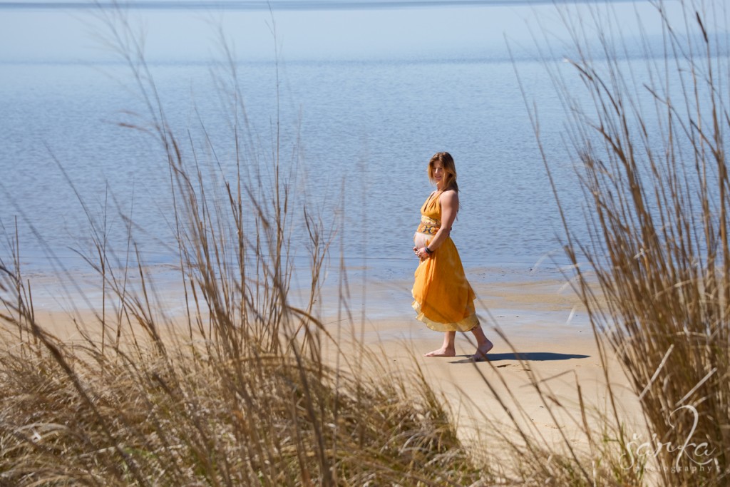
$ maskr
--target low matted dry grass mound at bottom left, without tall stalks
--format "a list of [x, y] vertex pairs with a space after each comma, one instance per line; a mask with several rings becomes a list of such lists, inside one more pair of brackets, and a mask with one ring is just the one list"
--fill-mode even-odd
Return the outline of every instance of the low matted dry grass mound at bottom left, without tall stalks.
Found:
[[484, 475], [439, 402], [406, 396], [402, 381], [283, 356], [58, 347], [2, 358], [2, 485], [435, 486]]

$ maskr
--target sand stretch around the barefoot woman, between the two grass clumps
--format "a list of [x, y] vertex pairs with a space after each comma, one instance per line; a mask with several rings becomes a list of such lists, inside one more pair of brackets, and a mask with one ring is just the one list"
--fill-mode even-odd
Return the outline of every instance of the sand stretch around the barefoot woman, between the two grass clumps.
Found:
[[612, 412], [609, 386], [626, 431], [642, 434], [637, 396], [613, 354], [607, 350], [602, 359], [580, 300], [560, 277], [530, 277], [473, 284], [480, 321], [494, 343], [489, 361], [471, 360], [469, 333], [457, 335], [455, 357], [424, 357], [442, 334], [415, 320], [410, 282], [369, 283], [364, 293], [355, 286], [350, 296], [361, 296], [350, 299], [359, 304], [350, 306], [356, 324], [342, 329], [335, 316], [329, 326], [342, 343], [363, 342], [391, 373], [422, 370], [450, 405], [464, 440], [514, 440], [516, 423], [549, 448], [569, 442], [585, 450], [584, 421], [600, 432], [607, 424], [602, 417]]

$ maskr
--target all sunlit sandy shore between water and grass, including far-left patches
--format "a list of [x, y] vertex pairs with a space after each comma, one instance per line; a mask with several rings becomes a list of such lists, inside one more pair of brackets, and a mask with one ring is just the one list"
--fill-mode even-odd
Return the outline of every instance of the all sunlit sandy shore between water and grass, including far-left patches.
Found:
[[[496, 275], [497, 271], [483, 272]], [[37, 319], [67, 340], [82, 339], [77, 323], [85, 323], [83, 328], [98, 336], [98, 279], [80, 276], [74, 285], [65, 283], [66, 291], [62, 281], [36, 276]], [[350, 282], [345, 300], [339, 299], [338, 286], [323, 288], [315, 312], [323, 316], [326, 330], [345, 352], [347, 361], [337, 360], [337, 347], [325, 341], [326, 357], [340, 367], [362, 364], [364, 369], [359, 373], [420, 369], [447, 401], [465, 439], [501, 434], [513, 437], [516, 422], [548, 444], [568, 441], [580, 449], [587, 444], [580, 404], [583, 402], [589, 413], [585, 421], [598, 428], [602, 424], [599, 416], [611, 413], [608, 385], [629, 431], [634, 428], [639, 432], [636, 395], [626, 387], [612, 353], [607, 352], [609, 358], [602, 362], [585, 310], [562, 277], [526, 273], [513, 278], [505, 274], [473, 285], [480, 321], [494, 343], [489, 361], [475, 363], [470, 359], [475, 351], [471, 334], [458, 334], [455, 357], [424, 357], [423, 353], [440, 344], [442, 335], [413, 317], [407, 280], [369, 282], [365, 286]], [[74, 292], [85, 293], [85, 298], [66, 296]], [[174, 286], [158, 287], [155, 299], [167, 308], [167, 318], [180, 316], [183, 301]], [[112, 316], [112, 322], [114, 304], [114, 299], [107, 301], [107, 316]], [[107, 336], [113, 337], [114, 330], [110, 331]], [[358, 361], [360, 344], [387, 368], [376, 367], [369, 360]]]

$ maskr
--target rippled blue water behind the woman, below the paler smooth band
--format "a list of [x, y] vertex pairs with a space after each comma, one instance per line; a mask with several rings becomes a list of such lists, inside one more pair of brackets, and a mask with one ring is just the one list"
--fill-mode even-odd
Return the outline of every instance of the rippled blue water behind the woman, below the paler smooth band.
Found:
[[[575, 72], [556, 66], [579, 91]], [[237, 122], [243, 177], [267, 187], [278, 129], [293, 204], [309, 204], [336, 229], [334, 255], [353, 262], [366, 256], [374, 275], [386, 279], [409, 277], [418, 210], [432, 189], [426, 164], [447, 150], [456, 159], [462, 204], [452, 237], [467, 267], [529, 268], [548, 255], [566, 261], [555, 197], [515, 75], [529, 103], [537, 103], [566, 217], [579, 225], [583, 193], [564, 148], [564, 110], [541, 63], [497, 55], [238, 67], [247, 117]], [[77, 251], [91, 252], [90, 219], [123, 253], [129, 229], [120, 215], [134, 222], [131, 234], [147, 264], [177, 261], [164, 151], [149, 134], [120, 126], [150, 123], [130, 69], [6, 62], [0, 70], [0, 238], [15, 238], [17, 218], [26, 268], [50, 269], [50, 254], [83, 268]], [[210, 177], [210, 200], [225, 201], [220, 175], [237, 170], [234, 110], [211, 74], [215, 66], [158, 62], [150, 70], [185, 157]], [[225, 72], [218, 76], [230, 81]], [[301, 221], [299, 210], [294, 218]], [[293, 253], [305, 259], [303, 231], [294, 229]], [[7, 259], [7, 248], [2, 252]]]

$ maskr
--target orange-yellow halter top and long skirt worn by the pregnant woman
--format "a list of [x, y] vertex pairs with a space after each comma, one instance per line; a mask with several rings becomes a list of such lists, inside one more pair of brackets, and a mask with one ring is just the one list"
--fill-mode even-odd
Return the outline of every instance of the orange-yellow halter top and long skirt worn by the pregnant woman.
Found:
[[[429, 245], [441, 226], [439, 196], [431, 194], [420, 208], [420, 225], [413, 236], [417, 248]], [[432, 330], [469, 331], [479, 324], [476, 296], [451, 237], [418, 264], [412, 293], [416, 318]]]

